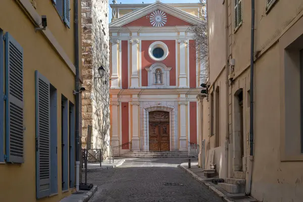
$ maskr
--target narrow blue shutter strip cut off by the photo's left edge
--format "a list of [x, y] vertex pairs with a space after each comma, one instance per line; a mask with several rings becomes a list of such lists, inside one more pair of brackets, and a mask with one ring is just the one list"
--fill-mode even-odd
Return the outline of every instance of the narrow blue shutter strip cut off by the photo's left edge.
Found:
[[4, 52], [3, 30], [0, 29], [0, 162], [4, 162]]

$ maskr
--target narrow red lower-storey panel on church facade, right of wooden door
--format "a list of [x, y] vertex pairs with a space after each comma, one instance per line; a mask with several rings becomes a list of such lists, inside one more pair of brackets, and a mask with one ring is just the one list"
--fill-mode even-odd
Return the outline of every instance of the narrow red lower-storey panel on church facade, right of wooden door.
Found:
[[189, 141], [197, 143], [197, 102], [189, 102]]

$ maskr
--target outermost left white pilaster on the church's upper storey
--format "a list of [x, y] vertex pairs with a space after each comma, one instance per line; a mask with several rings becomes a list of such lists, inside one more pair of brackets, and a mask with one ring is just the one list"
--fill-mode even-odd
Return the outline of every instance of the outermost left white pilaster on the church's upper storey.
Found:
[[111, 39], [110, 40], [111, 44], [112, 44], [112, 84], [111, 84], [111, 88], [115, 89], [115, 88], [119, 88], [119, 75], [118, 75], [118, 68], [120, 65], [120, 61], [119, 61], [119, 57], [118, 57], [118, 44], [119, 44], [119, 40], [118, 39]]

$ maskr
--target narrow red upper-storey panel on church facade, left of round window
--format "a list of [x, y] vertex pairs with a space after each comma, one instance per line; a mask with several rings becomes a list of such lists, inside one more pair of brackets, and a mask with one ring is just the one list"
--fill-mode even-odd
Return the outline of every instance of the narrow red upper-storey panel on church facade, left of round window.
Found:
[[121, 52], [122, 52], [122, 88], [128, 88], [128, 41], [121, 41]]

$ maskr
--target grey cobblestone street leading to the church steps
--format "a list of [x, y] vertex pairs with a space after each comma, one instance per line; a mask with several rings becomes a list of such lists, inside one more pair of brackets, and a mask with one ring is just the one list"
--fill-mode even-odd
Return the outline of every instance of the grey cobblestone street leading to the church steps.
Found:
[[206, 186], [177, 167], [186, 161], [183, 158], [126, 159], [116, 169], [91, 171], [87, 182], [98, 185], [98, 191], [90, 202], [221, 202]]

